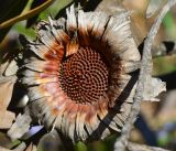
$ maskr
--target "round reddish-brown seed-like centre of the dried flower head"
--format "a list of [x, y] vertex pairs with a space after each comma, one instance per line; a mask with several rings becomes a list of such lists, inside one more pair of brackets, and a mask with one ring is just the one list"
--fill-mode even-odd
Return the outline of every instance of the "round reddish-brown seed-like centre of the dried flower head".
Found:
[[92, 103], [107, 90], [108, 68], [100, 53], [79, 48], [63, 61], [59, 71], [61, 86], [76, 103]]

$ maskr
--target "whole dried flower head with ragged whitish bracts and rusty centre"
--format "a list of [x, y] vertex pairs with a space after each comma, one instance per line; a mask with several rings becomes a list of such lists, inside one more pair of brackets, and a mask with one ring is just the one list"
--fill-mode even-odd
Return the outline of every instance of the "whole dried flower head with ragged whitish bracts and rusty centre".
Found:
[[46, 129], [74, 142], [103, 139], [120, 131], [129, 116], [140, 53], [128, 13], [109, 15], [67, 9], [67, 18], [37, 24], [24, 46], [21, 82], [26, 107]]

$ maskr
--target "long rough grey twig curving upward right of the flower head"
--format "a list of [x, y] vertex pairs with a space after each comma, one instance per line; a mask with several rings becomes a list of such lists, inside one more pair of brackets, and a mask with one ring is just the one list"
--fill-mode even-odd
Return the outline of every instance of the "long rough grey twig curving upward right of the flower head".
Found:
[[133, 128], [133, 123], [140, 112], [140, 105], [142, 101], [142, 96], [144, 93], [144, 85], [146, 84], [147, 76], [152, 73], [152, 54], [151, 47], [154, 42], [154, 37], [160, 29], [163, 18], [167, 13], [167, 11], [176, 4], [176, 0], [169, 0], [158, 13], [152, 29], [150, 30], [147, 37], [144, 42], [144, 50], [141, 63], [141, 71], [138, 82], [138, 87], [134, 96], [134, 103], [132, 105], [132, 111], [122, 129], [121, 137], [114, 143], [114, 151], [124, 151], [128, 145], [128, 140], [130, 138], [130, 132]]

